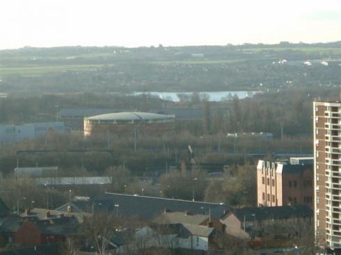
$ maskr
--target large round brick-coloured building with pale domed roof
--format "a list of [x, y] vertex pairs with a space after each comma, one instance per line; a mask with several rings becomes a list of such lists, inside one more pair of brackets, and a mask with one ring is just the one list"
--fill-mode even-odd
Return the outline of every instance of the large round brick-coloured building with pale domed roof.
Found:
[[157, 113], [108, 113], [84, 118], [84, 136], [136, 135], [136, 133], [162, 135], [173, 131], [174, 115]]

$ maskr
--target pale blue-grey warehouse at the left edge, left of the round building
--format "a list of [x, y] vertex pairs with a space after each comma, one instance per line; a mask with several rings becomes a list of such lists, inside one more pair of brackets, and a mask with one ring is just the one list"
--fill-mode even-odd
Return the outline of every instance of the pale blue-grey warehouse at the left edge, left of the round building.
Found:
[[66, 133], [67, 129], [63, 122], [40, 122], [27, 123], [22, 125], [0, 125], [0, 144], [37, 138], [38, 136], [46, 135], [49, 131]]

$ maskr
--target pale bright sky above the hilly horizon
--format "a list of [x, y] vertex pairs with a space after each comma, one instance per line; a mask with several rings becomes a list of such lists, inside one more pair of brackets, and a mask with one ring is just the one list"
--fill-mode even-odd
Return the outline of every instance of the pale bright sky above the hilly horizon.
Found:
[[0, 49], [341, 40], [341, 0], [0, 0]]

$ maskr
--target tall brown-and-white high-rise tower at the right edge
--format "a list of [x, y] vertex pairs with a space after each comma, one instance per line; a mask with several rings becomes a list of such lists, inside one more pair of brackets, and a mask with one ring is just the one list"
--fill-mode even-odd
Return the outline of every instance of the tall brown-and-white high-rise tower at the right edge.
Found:
[[314, 104], [314, 215], [317, 245], [341, 249], [341, 102]]

